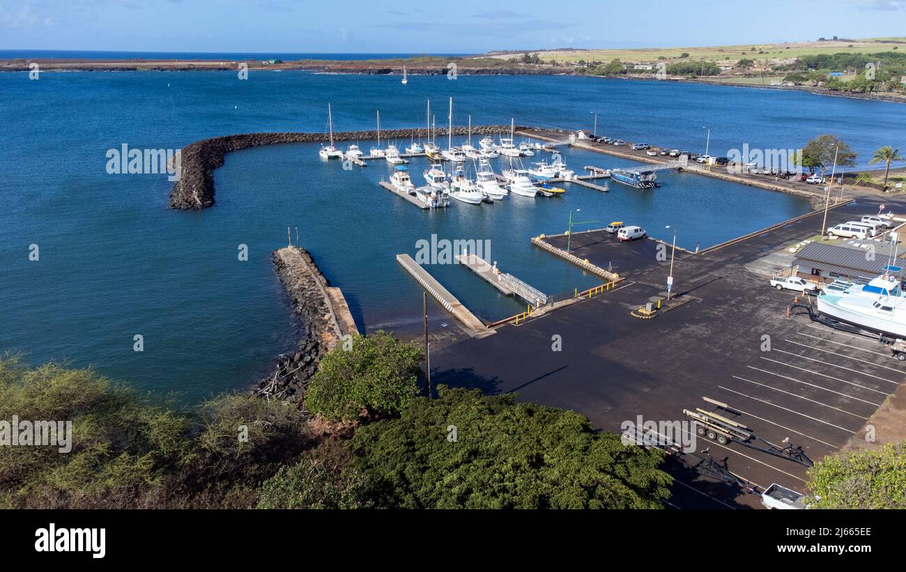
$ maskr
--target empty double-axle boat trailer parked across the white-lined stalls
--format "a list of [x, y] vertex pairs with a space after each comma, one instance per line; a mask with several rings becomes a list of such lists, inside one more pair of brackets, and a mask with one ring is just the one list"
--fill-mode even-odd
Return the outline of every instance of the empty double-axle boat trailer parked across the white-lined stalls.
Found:
[[784, 439], [783, 443], [787, 443], [784, 447], [771, 443], [766, 439], [758, 437], [746, 425], [737, 423], [724, 415], [720, 415], [718, 410], [721, 413], [727, 412], [728, 414], [733, 415], [742, 415], [740, 412], [732, 409], [729, 405], [714, 399], [708, 397], [702, 397], [702, 399], [707, 403], [714, 405], [714, 410], [707, 411], [700, 407], [697, 407], [695, 411], [690, 411], [689, 409], [682, 410], [683, 415], [686, 415], [686, 417], [695, 424], [695, 432], [699, 436], [707, 437], [711, 441], [715, 441], [722, 445], [738, 443], [749, 449], [774, 455], [775, 457], [786, 459], [787, 461], [797, 462], [806, 467], [814, 466], [814, 462], [805, 455], [802, 447], [788, 443], [789, 437]]

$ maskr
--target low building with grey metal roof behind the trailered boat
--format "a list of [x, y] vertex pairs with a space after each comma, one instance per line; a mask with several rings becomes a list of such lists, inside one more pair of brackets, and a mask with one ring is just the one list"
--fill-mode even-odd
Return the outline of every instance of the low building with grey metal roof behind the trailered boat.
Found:
[[[871, 246], [875, 246], [871, 248]], [[893, 275], [900, 280], [906, 279], [906, 261], [891, 258], [882, 245], [863, 243], [862, 247], [852, 248], [835, 244], [809, 243], [795, 254], [794, 264], [799, 265], [800, 272], [828, 278], [862, 278], [871, 280], [884, 272], [884, 267], [891, 264], [896, 269]]]

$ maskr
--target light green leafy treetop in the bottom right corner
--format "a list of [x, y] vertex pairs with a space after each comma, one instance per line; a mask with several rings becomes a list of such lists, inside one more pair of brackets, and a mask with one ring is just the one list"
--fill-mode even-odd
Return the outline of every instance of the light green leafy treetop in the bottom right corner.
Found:
[[817, 509], [906, 509], [906, 442], [828, 455], [808, 477]]

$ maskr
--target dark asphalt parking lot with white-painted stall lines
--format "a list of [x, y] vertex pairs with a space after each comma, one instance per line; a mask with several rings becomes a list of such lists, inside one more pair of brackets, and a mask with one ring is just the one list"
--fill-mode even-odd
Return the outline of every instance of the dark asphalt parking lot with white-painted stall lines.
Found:
[[[828, 225], [872, 208], [876, 212], [866, 201], [843, 206], [831, 211]], [[821, 216], [712, 253], [678, 251], [677, 291], [694, 300], [655, 319], [638, 319], [631, 311], [665, 289], [670, 262], [655, 256], [657, 244], [617, 243], [602, 233], [573, 235], [573, 253], [603, 267], [612, 263], [626, 281], [598, 298], [506, 326], [495, 336], [432, 351], [432, 381], [492, 394], [516, 392], [522, 400], [578, 411], [596, 428], [614, 433], [638, 415], [681, 421], [683, 409], [713, 409], [702, 400], [707, 396], [727, 404], [732, 411], [721, 415], [745, 424], [758, 438], [780, 448], [801, 447], [811, 460], [821, 459], [861, 434], [906, 376], [906, 364], [870, 338], [828, 329], [805, 316], [787, 318], [795, 292], [773, 290], [743, 268], [814, 234]], [[563, 246], [558, 240], [551, 242]], [[560, 351], [554, 351], [555, 336], [562, 340]], [[760, 490], [777, 482], [805, 491], [804, 465], [698, 437], [696, 453], [668, 465], [676, 480], [670, 506], [760, 506], [757, 494], [744, 487], [689, 470], [708, 462], [706, 448], [714, 462]]]

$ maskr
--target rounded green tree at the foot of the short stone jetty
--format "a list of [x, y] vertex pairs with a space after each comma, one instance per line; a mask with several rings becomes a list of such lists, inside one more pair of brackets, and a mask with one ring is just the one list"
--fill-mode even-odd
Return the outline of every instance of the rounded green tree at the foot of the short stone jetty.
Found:
[[352, 348], [341, 344], [323, 357], [305, 405], [332, 421], [397, 415], [419, 395], [421, 358], [416, 342], [382, 330], [353, 338]]

